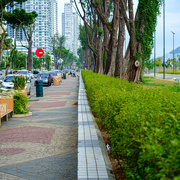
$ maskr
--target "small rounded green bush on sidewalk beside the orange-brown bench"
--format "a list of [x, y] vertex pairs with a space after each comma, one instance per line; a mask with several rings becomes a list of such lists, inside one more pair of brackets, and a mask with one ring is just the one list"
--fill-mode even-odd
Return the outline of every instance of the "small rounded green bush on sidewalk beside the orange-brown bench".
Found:
[[29, 110], [27, 109], [27, 104], [28, 104], [27, 96], [21, 93], [16, 93], [14, 94], [13, 101], [14, 101], [14, 109], [13, 109], [14, 114], [26, 114], [29, 112]]

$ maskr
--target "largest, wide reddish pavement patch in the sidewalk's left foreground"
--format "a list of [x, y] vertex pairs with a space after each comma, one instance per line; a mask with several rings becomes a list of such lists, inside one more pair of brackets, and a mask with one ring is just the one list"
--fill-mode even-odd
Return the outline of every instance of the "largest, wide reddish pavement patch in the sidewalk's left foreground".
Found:
[[0, 143], [32, 142], [49, 144], [55, 129], [25, 126], [0, 131]]

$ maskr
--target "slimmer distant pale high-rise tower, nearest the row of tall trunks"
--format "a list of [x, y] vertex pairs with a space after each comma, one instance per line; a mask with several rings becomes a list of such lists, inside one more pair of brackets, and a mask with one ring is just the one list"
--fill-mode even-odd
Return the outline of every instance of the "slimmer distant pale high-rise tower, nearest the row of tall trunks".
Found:
[[69, 49], [77, 56], [78, 38], [79, 38], [79, 17], [73, 12], [70, 3], [64, 4], [64, 13], [62, 13], [62, 35], [65, 36], [65, 48]]

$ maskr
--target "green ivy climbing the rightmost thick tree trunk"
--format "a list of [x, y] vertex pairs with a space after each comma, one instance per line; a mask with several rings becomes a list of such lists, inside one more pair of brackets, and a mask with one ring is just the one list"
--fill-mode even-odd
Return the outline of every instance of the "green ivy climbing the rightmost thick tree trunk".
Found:
[[[142, 51], [136, 54], [136, 58], [142, 58], [142, 70], [144, 68], [144, 63], [150, 59], [151, 56], [160, 6], [161, 0], [140, 0], [138, 4], [138, 9], [141, 13], [135, 23], [135, 36], [142, 45]], [[144, 25], [144, 30], [142, 29], [142, 24]]]

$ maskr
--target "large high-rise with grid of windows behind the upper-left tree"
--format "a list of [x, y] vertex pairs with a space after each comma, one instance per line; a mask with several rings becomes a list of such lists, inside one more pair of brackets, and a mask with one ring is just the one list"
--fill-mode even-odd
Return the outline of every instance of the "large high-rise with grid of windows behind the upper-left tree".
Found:
[[[22, 7], [27, 12], [36, 11], [35, 28], [33, 33], [33, 51], [41, 48], [44, 51], [51, 52], [51, 37], [58, 33], [57, 25], [57, 0], [28, 0], [22, 4]], [[13, 31], [11, 28], [9, 31]], [[9, 33], [11, 37], [13, 33]], [[25, 39], [21, 39], [25, 40]]]

